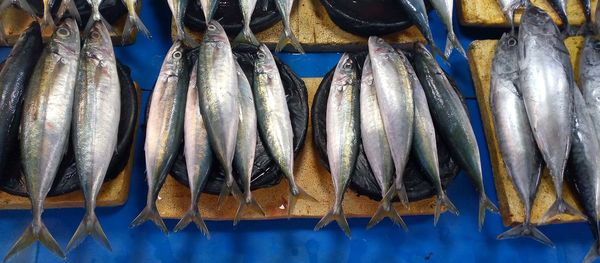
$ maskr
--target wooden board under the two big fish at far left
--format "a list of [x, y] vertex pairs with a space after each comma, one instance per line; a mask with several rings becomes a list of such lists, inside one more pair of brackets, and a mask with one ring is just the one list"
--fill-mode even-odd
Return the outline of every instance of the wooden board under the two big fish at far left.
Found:
[[[127, 196], [129, 194], [129, 185], [131, 183], [131, 171], [133, 169], [133, 156], [135, 154], [135, 142], [137, 137], [137, 123], [139, 121], [139, 112], [141, 112], [141, 90], [140, 87], [135, 83], [135, 89], [137, 90], [138, 96], [138, 116], [136, 116], [136, 129], [133, 131], [133, 143], [131, 144], [131, 151], [129, 152], [129, 161], [127, 165], [121, 171], [117, 177], [104, 183], [98, 194], [97, 206], [120, 206], [125, 204]], [[48, 197], [44, 201], [44, 208], [72, 208], [72, 207], [83, 207], [83, 192], [81, 190], [59, 195]], [[17, 195], [11, 195], [6, 192], [0, 191], [0, 210], [4, 209], [31, 209], [31, 203], [29, 198]]]

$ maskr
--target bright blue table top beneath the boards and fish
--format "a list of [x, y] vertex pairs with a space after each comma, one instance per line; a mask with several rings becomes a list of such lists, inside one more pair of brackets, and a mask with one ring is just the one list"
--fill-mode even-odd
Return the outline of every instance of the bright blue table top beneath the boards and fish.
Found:
[[[306, 1], [306, 0], [305, 0]], [[117, 47], [117, 57], [132, 69], [133, 78], [143, 88], [143, 107], [147, 102], [162, 60], [170, 47], [170, 13], [166, 1], [147, 0], [141, 18], [152, 32], [152, 40], [138, 37], [128, 47]], [[431, 14], [431, 27], [436, 43], [445, 43], [445, 29]], [[458, 21], [455, 21], [458, 25]], [[467, 29], [456, 26], [457, 34], [466, 47], [474, 39], [499, 38], [500, 31]], [[0, 49], [5, 57], [10, 49]], [[302, 77], [321, 77], [340, 57], [338, 53], [306, 55], [279, 54]], [[464, 95], [468, 98], [473, 127], [480, 146], [485, 187], [497, 204], [496, 191], [485, 136], [467, 61], [455, 53], [449, 69]], [[447, 66], [444, 65], [446, 69]], [[583, 223], [541, 226], [556, 248], [543, 246], [529, 239], [498, 241], [496, 236], [506, 230], [499, 215], [487, 214], [485, 226], [477, 231], [477, 195], [464, 175], [455, 180], [448, 195], [460, 210], [460, 216], [444, 214], [437, 227], [432, 216], [405, 217], [409, 231], [404, 232], [383, 221], [365, 230], [368, 219], [350, 219], [352, 239], [346, 238], [337, 225], [330, 224], [314, 232], [317, 219], [274, 221], [242, 221], [233, 227], [231, 221], [207, 222], [212, 238], [207, 240], [197, 229], [188, 227], [182, 232], [163, 235], [151, 223], [129, 229], [131, 220], [144, 207], [146, 180], [143, 159], [143, 129], [139, 129], [135, 165], [131, 178], [129, 200], [124, 206], [98, 208], [96, 213], [111, 241], [108, 252], [89, 238], [67, 255], [68, 262], [188, 262], [188, 261], [394, 261], [394, 262], [580, 262], [592, 244], [592, 235]], [[83, 216], [83, 209], [48, 209], [44, 222], [64, 247]], [[0, 211], [0, 255], [5, 255], [31, 220], [28, 210]], [[177, 223], [167, 220], [172, 229]], [[13, 262], [61, 262], [41, 245], [33, 245]]]

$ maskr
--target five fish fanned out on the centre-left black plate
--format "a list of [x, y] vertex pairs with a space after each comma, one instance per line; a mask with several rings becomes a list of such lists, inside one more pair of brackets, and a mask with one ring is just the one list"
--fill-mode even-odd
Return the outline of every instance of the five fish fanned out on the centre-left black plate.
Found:
[[[175, 231], [194, 222], [208, 235], [198, 210], [198, 198], [213, 158], [226, 178], [219, 203], [230, 193], [240, 202], [234, 223], [247, 206], [264, 214], [250, 191], [259, 133], [287, 178], [288, 213], [294, 210], [297, 198], [314, 200], [294, 181], [292, 123], [281, 76], [269, 49], [265, 45], [258, 49], [253, 83], [249, 83], [234, 58], [227, 35], [217, 21], [208, 23], [199, 50], [192, 72], [188, 72], [186, 47], [179, 40], [163, 62], [146, 128], [147, 204], [132, 227], [151, 220], [163, 232], [168, 231], [158, 214], [156, 199], [182, 139], [192, 202]], [[243, 182], [241, 190], [234, 171]]]

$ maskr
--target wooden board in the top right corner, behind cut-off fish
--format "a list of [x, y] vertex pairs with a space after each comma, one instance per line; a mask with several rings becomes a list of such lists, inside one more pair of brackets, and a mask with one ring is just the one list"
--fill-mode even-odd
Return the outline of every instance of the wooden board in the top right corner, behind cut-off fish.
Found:
[[[574, 26], [583, 25], [585, 15], [579, 0], [566, 1], [569, 23]], [[597, 1], [592, 0], [592, 16], [594, 16]], [[558, 14], [552, 9], [548, 0], [531, 0], [531, 2], [548, 12], [559, 26], [562, 25]], [[460, 23], [464, 26], [510, 27], [509, 21], [504, 17], [497, 0], [460, 0], [460, 11]], [[516, 25], [521, 22], [521, 13], [522, 10], [519, 10], [515, 14]]]

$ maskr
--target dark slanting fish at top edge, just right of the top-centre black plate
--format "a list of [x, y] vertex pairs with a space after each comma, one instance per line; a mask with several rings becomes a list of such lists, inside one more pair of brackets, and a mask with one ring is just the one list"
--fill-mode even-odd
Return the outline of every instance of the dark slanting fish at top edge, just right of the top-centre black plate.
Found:
[[421, 31], [421, 34], [423, 34], [427, 43], [431, 45], [432, 50], [447, 60], [448, 58], [445, 57], [444, 52], [436, 46], [435, 41], [433, 40], [425, 2], [423, 0], [398, 0], [396, 2], [400, 3], [412, 23], [415, 24], [419, 31]]

